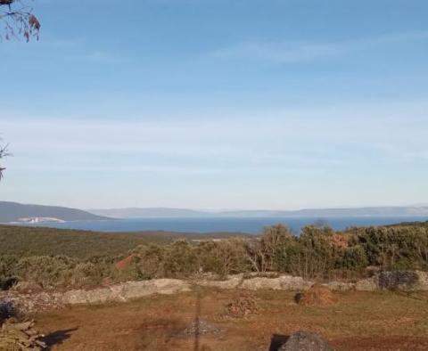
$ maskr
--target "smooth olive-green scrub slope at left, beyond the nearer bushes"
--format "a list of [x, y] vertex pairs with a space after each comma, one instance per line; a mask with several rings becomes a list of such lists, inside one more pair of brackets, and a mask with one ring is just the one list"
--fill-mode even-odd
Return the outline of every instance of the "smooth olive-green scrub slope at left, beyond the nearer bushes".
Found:
[[96, 233], [88, 231], [0, 225], [0, 255], [20, 257], [56, 256], [87, 258], [126, 254], [149, 241], [168, 242], [181, 238], [199, 240], [226, 238], [242, 233]]

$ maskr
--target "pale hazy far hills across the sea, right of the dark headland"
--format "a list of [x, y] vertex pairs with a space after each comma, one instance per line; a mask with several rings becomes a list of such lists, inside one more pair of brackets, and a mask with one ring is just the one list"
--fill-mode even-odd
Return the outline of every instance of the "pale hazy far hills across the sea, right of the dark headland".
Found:
[[99, 216], [114, 218], [162, 218], [162, 217], [349, 217], [349, 216], [427, 216], [428, 207], [379, 207], [379, 208], [321, 208], [241, 211], [198, 211], [183, 208], [111, 208], [90, 209]]

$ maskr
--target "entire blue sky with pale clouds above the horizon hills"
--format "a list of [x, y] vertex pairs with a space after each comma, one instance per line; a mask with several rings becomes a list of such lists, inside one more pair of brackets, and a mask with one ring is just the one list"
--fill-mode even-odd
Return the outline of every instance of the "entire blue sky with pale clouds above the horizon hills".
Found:
[[40, 40], [0, 42], [0, 200], [428, 202], [426, 0], [119, 3], [35, 0]]

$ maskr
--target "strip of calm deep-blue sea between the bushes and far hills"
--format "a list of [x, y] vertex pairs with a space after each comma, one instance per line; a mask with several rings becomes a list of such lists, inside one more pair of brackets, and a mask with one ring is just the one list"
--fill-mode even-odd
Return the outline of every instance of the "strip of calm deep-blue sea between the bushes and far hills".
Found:
[[30, 224], [53, 228], [82, 229], [95, 232], [168, 231], [183, 233], [240, 232], [260, 233], [267, 225], [286, 224], [294, 233], [308, 224], [324, 223], [335, 230], [350, 226], [396, 224], [427, 221], [428, 217], [259, 217], [259, 218], [136, 218], [106, 221], [78, 221], [67, 223]]

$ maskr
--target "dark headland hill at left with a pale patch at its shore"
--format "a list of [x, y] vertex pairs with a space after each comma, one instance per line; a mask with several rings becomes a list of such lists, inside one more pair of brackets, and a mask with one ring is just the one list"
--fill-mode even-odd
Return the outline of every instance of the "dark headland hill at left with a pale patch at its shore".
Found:
[[57, 206], [25, 205], [0, 201], [0, 223], [18, 222], [23, 218], [60, 219], [62, 221], [86, 221], [108, 219], [76, 208]]

